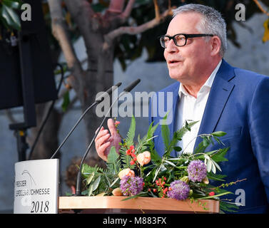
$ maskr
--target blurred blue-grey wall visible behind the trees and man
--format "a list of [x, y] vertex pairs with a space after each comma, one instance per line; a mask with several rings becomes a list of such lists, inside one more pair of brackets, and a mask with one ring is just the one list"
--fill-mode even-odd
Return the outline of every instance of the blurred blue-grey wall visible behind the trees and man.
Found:
[[[265, 19], [267, 17], [260, 14], [243, 23], [252, 28], [253, 33], [235, 25], [235, 31], [238, 33], [238, 41], [241, 43], [242, 48], [235, 48], [233, 44], [228, 43], [228, 52], [225, 54], [225, 60], [228, 63], [269, 76], [269, 42], [261, 42], [264, 31], [263, 21]], [[86, 54], [83, 48], [83, 42], [80, 41], [76, 44], [76, 52], [81, 59], [85, 58]], [[143, 54], [143, 57], [130, 63], [125, 72], [121, 70], [120, 64], [115, 61], [114, 81], [115, 83], [118, 81], [123, 82], [121, 90], [136, 78], [141, 78], [141, 83], [136, 87], [135, 91], [157, 91], [173, 83], [168, 76], [166, 63], [145, 63], [145, 59], [146, 53]], [[71, 130], [80, 115], [80, 110], [73, 109], [64, 117], [59, 134], [60, 142], [64, 140], [64, 137]], [[21, 114], [16, 114], [15, 118], [21, 118]], [[121, 121], [121, 133], [125, 135], [128, 130], [130, 118], [118, 118], [118, 120]], [[137, 118], [136, 120], [137, 133], [143, 135], [146, 132], [148, 118]], [[71, 158], [76, 155], [82, 156], [85, 152], [85, 135], [85, 126], [81, 123], [62, 148], [61, 180], [64, 180], [64, 171]], [[4, 110], [0, 110], [0, 156], [0, 212], [12, 212], [14, 200], [14, 163], [18, 161], [18, 155], [16, 138], [14, 137], [14, 133], [9, 130], [9, 119], [6, 118]], [[70, 190], [64, 185], [64, 181], [62, 181], [61, 195], [64, 195], [68, 191]]]

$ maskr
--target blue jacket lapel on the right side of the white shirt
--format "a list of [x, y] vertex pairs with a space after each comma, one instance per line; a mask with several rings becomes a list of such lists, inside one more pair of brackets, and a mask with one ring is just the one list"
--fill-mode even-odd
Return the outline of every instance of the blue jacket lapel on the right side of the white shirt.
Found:
[[[208, 95], [198, 135], [214, 132], [220, 115], [223, 113], [225, 104], [234, 88], [234, 84], [229, 82], [234, 76], [233, 68], [223, 60]], [[196, 138], [195, 148], [201, 141], [202, 138]]]

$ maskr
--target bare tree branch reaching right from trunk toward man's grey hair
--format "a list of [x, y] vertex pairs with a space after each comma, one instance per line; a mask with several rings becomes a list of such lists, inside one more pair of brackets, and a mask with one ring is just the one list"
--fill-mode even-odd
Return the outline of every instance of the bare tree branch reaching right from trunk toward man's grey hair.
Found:
[[111, 31], [110, 33], [107, 33], [104, 38], [105, 42], [103, 43], [103, 50], [106, 50], [111, 46], [111, 43], [115, 38], [118, 36], [121, 36], [123, 34], [129, 34], [129, 35], [136, 35], [138, 33], [143, 33], [143, 31], [146, 31], [150, 28], [153, 28], [155, 26], [158, 26], [158, 24], [161, 23], [164, 19], [166, 19], [167, 16], [173, 15], [172, 9], [167, 9], [166, 11], [161, 14], [159, 19], [156, 17], [155, 19], [146, 22], [145, 24], [141, 24], [140, 26], [122, 26], [119, 28], [116, 28], [115, 30]]

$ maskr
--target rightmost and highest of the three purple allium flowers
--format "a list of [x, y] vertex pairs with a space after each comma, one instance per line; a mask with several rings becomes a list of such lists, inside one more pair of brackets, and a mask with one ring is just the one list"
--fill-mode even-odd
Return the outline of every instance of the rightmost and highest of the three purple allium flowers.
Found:
[[188, 180], [192, 182], [201, 182], [206, 177], [206, 166], [201, 160], [194, 160], [190, 162], [187, 168]]

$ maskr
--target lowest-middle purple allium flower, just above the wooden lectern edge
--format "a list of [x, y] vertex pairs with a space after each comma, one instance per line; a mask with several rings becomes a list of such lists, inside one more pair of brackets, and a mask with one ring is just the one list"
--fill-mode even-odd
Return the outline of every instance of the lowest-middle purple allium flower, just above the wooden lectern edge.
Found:
[[171, 183], [167, 196], [172, 199], [187, 199], [190, 194], [190, 187], [182, 180], [175, 180]]

